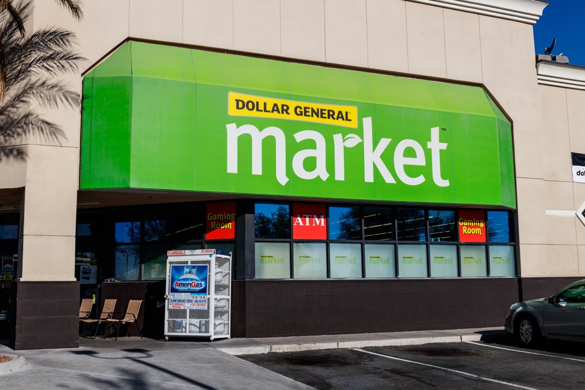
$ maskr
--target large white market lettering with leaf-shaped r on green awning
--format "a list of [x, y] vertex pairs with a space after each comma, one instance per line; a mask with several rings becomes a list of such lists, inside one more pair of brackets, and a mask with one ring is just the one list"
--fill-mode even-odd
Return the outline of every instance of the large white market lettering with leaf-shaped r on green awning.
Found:
[[[235, 123], [226, 125], [228, 132], [227, 154], [228, 154], [228, 173], [238, 173], [238, 139], [243, 134], [252, 137], [252, 174], [262, 175], [262, 142], [266, 137], [274, 137], [276, 150], [276, 179], [281, 185], [287, 184], [287, 146], [286, 137], [283, 130], [276, 126], [266, 127], [259, 130], [253, 125], [237, 126]], [[314, 130], [303, 130], [293, 134], [297, 143], [304, 140], [313, 140], [315, 149], [303, 149], [297, 151], [292, 157], [292, 171], [294, 174], [305, 180], [321, 178], [326, 181], [329, 178], [329, 172], [326, 168], [326, 141], [325, 137]], [[363, 143], [363, 161], [364, 161], [364, 182], [374, 182], [374, 167], [377, 168], [381, 177], [390, 184], [396, 184], [396, 180], [388, 170], [386, 163], [381, 158], [382, 153], [386, 150], [391, 138], [381, 138], [377, 145], [374, 145], [371, 118], [363, 118], [363, 138], [357, 134], [333, 134], [333, 154], [334, 154], [334, 178], [338, 181], [345, 181], [345, 148], [355, 147]], [[426, 143], [427, 149], [431, 150], [431, 167], [432, 178], [438, 187], [448, 187], [449, 180], [445, 180], [441, 175], [441, 150], [446, 150], [448, 144], [439, 141], [439, 127], [432, 127], [430, 140]], [[405, 151], [412, 149], [415, 157], [406, 157]], [[316, 167], [314, 170], [307, 171], [304, 167], [304, 161], [307, 158], [315, 158]], [[394, 170], [398, 180], [407, 185], [419, 185], [426, 181], [424, 175], [420, 174], [411, 177], [405, 171], [409, 165], [426, 166], [425, 152], [420, 143], [412, 139], [404, 139], [398, 142], [394, 149]]]

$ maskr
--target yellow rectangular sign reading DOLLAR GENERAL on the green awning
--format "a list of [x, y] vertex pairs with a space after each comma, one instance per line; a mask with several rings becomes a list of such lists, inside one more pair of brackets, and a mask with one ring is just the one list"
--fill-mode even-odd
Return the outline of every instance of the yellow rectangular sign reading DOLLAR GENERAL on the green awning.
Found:
[[296, 102], [238, 94], [238, 92], [228, 93], [228, 114], [230, 116], [302, 120], [357, 128], [356, 106]]

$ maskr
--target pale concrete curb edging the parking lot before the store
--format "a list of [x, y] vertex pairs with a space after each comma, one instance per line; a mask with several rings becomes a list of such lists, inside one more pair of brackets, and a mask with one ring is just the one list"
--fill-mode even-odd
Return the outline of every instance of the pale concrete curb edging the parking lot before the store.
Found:
[[439, 337], [409, 337], [396, 339], [359, 340], [359, 341], [326, 341], [322, 343], [301, 343], [301, 344], [260, 344], [250, 347], [225, 347], [217, 348], [233, 356], [300, 352], [329, 349], [366, 348], [366, 347], [388, 347], [388, 346], [416, 346], [430, 343], [462, 343], [464, 341], [480, 341], [481, 334], [463, 334], [462, 336], [439, 336]]

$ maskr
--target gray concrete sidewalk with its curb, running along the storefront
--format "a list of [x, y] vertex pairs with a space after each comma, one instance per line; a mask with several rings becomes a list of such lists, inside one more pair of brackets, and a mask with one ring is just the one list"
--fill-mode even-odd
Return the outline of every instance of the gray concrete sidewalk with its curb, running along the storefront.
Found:
[[2, 388], [311, 389], [233, 355], [328, 348], [447, 343], [501, 337], [502, 328], [199, 341], [80, 339], [80, 348], [13, 351], [26, 367], [0, 374]]

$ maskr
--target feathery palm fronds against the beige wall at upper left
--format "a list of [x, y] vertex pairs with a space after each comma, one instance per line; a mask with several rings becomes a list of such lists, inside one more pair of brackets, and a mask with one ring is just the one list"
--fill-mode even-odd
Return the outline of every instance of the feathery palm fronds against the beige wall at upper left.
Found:
[[0, 98], [4, 75], [6, 86], [0, 103], [0, 161], [24, 160], [26, 149], [21, 145], [31, 138], [57, 144], [66, 139], [63, 129], [43, 119], [30, 103], [40, 108], [78, 108], [80, 95], [58, 77], [77, 73], [86, 61], [75, 53], [75, 36], [68, 30], [45, 27], [25, 36], [23, 23], [32, 15], [32, 1], [14, 7], [20, 19], [0, 5]]

